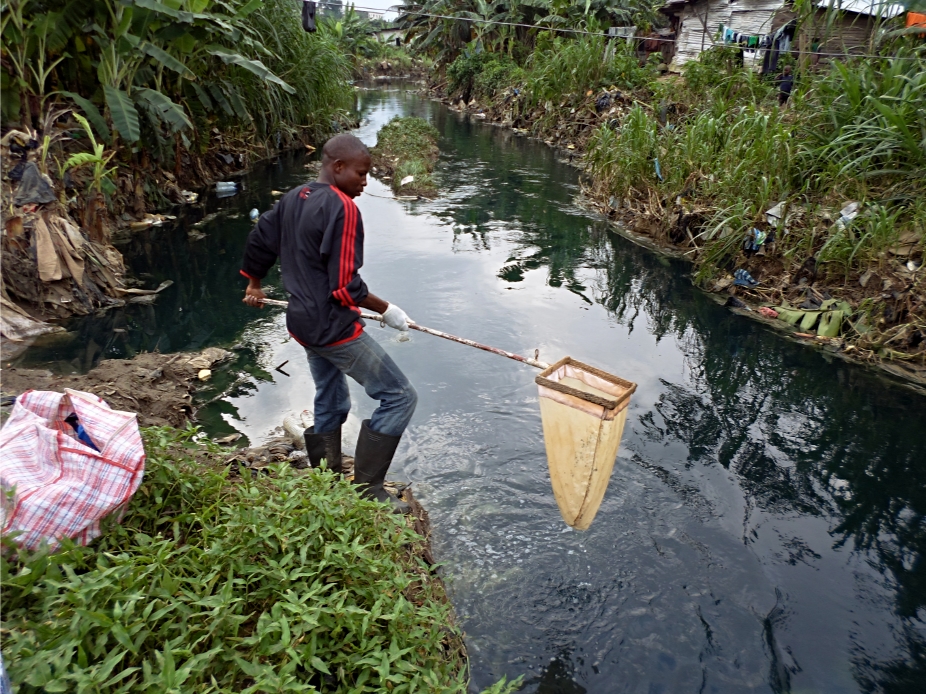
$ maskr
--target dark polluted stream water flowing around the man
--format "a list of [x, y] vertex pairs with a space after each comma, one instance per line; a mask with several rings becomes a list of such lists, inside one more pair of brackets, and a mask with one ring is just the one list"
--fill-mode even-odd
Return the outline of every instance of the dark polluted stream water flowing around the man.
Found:
[[[545, 694], [926, 691], [926, 398], [731, 315], [686, 265], [578, 208], [576, 171], [545, 146], [408, 92], [358, 100], [370, 144], [396, 114], [441, 132], [440, 199], [374, 197], [390, 192], [373, 181], [358, 200], [372, 291], [424, 325], [639, 384], [604, 503], [573, 532], [536, 372], [368, 326], [418, 388], [394, 475], [431, 514], [474, 687], [523, 674]], [[303, 164], [283, 158], [211, 201], [201, 240], [190, 219], [134, 237], [131, 267], [175, 285], [19, 362], [238, 343], [250, 375], [206, 408], [211, 432], [260, 439], [310, 407], [282, 313], [241, 304], [237, 274], [247, 211], [303, 182]], [[286, 360], [289, 376], [273, 370]]]

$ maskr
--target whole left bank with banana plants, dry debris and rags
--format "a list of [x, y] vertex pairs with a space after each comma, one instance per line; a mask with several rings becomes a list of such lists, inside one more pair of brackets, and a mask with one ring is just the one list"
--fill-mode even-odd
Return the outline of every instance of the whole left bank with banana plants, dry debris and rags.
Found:
[[13, 341], [131, 298], [117, 231], [352, 124], [351, 56], [286, 0], [9, 0], [2, 41]]

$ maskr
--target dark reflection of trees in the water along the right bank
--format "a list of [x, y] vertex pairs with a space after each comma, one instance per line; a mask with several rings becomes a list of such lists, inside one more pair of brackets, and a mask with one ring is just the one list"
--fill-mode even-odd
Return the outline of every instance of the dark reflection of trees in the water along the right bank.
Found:
[[[641, 417], [646, 435], [683, 442], [689, 465], [717, 462], [736, 473], [747, 504], [834, 516], [834, 545], [871, 550], [893, 575], [905, 624], [908, 658], [860, 659], [860, 681], [892, 691], [892, 682], [904, 691], [903, 682], [926, 681], [926, 642], [913, 627], [926, 609], [923, 398], [718, 313], [681, 268], [629, 243], [598, 253], [610, 261], [599, 301], [625, 325], [645, 316], [657, 339], [674, 335], [690, 371], [688, 383], [663, 382]], [[812, 555], [797, 538], [785, 549], [792, 562]]]

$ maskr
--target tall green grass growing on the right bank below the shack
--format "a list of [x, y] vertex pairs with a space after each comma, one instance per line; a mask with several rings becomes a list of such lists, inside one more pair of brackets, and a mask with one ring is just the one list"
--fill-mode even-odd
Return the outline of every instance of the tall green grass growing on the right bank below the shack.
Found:
[[[697, 207], [701, 281], [732, 269], [746, 233], [782, 200], [801, 214], [777, 234], [778, 249], [797, 265], [815, 258], [824, 275], [883, 263], [904, 234], [923, 243], [922, 49], [799, 74], [787, 111], [777, 107], [773, 83], [728, 59], [708, 51], [686, 66], [679, 118], [664, 123], [635, 105], [613, 127], [595, 130], [587, 164], [601, 196], [643, 199], [655, 191]], [[826, 210], [838, 216], [848, 200], [863, 210], [851, 223], [813, 221]]]

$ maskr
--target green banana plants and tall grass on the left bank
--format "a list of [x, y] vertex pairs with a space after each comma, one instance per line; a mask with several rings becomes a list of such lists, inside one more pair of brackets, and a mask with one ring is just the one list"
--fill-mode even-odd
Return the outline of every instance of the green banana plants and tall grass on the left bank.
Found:
[[323, 136], [350, 105], [344, 54], [305, 33], [287, 0], [7, 0], [2, 9], [5, 123], [31, 127], [61, 96], [107, 144], [143, 143], [169, 165], [178, 145], [205, 151], [214, 127], [280, 145], [303, 130]]

